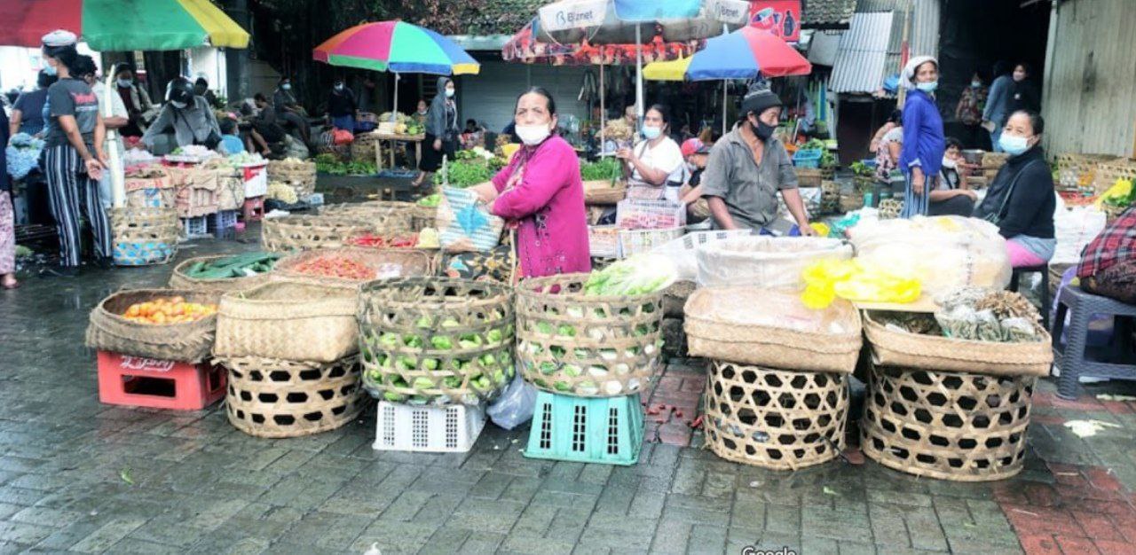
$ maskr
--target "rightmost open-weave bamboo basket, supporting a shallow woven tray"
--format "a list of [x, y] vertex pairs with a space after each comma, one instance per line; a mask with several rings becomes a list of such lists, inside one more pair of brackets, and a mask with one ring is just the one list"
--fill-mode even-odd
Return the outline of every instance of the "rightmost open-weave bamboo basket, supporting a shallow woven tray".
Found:
[[1025, 460], [1035, 380], [876, 367], [860, 423], [861, 448], [876, 462], [916, 476], [1010, 478]]

